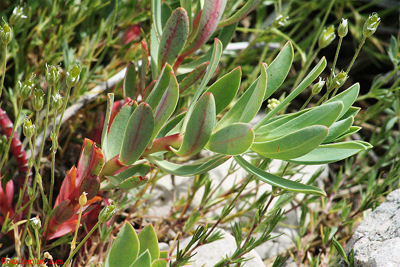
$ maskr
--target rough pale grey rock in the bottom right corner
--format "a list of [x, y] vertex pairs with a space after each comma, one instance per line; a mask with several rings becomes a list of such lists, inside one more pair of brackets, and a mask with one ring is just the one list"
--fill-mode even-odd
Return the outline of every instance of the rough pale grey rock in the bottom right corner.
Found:
[[347, 255], [351, 248], [354, 266], [400, 266], [400, 189], [389, 193], [358, 225], [344, 248]]

